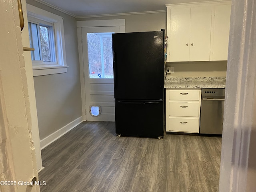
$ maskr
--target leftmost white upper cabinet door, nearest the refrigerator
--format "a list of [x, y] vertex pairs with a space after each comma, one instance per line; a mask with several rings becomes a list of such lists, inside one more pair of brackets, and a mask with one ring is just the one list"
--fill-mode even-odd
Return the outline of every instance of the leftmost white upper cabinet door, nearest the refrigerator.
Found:
[[170, 11], [169, 37], [167, 58], [170, 61], [189, 61], [190, 8], [174, 8]]

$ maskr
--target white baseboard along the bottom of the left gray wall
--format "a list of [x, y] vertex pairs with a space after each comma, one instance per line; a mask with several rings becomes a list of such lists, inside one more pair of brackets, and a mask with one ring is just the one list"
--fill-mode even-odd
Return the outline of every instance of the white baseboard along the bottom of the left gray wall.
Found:
[[56, 132], [50, 134], [46, 138], [40, 140], [40, 146], [41, 150], [46, 148], [48, 145], [50, 145], [52, 142], [72, 130], [74, 127], [76, 127], [78, 124], [82, 123], [84, 121], [83, 116], [75, 119], [74, 121], [70, 122], [69, 124], [65, 125], [64, 127], [60, 128]]

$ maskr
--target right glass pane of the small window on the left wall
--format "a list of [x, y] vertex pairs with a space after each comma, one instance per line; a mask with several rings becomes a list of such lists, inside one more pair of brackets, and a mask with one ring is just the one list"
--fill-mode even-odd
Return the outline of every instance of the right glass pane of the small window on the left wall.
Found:
[[42, 58], [44, 62], [52, 62], [50, 54], [49, 27], [40, 25]]

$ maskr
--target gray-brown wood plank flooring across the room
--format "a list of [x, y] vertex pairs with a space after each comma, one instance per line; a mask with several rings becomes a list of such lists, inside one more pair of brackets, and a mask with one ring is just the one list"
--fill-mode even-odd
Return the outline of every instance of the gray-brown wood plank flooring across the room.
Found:
[[221, 138], [116, 137], [114, 122], [83, 122], [42, 150], [41, 192], [217, 192]]

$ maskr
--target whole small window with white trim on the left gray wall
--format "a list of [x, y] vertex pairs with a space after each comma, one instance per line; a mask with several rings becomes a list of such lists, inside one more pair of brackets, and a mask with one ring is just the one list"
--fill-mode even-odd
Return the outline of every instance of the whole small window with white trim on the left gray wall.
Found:
[[62, 17], [27, 4], [33, 75], [67, 72]]

